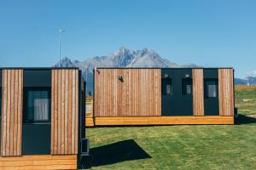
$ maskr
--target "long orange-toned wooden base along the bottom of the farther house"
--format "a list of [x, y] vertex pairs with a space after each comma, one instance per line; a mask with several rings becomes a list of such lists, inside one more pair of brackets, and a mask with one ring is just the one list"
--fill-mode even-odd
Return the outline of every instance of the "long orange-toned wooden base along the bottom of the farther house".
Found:
[[234, 124], [234, 116], [133, 116], [95, 117], [95, 125]]

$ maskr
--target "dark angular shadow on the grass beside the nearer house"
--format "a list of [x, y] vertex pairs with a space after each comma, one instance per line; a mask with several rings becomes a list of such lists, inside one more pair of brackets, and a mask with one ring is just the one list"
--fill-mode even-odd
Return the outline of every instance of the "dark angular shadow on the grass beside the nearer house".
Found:
[[124, 140], [90, 149], [92, 167], [109, 165], [122, 161], [151, 158], [134, 140]]

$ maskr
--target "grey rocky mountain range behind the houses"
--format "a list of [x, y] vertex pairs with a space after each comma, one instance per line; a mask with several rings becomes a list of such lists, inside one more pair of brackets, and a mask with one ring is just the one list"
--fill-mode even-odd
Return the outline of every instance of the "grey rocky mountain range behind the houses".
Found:
[[[119, 48], [113, 54], [95, 56], [84, 61], [71, 60], [67, 57], [61, 59], [54, 65], [55, 67], [79, 67], [82, 70], [84, 80], [87, 82], [87, 93], [93, 93], [93, 69], [96, 67], [108, 68], [195, 68], [200, 67], [195, 64], [177, 65], [168, 59], [162, 58], [153, 49], [143, 48], [137, 51], [124, 47]], [[256, 77], [247, 77], [245, 79], [235, 78], [235, 84], [256, 83]]]

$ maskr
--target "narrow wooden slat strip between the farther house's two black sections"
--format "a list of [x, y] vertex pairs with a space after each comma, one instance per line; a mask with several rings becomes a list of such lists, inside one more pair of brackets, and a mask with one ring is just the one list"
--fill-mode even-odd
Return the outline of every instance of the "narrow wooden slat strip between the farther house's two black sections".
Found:
[[204, 116], [204, 75], [203, 69], [193, 69], [193, 115]]

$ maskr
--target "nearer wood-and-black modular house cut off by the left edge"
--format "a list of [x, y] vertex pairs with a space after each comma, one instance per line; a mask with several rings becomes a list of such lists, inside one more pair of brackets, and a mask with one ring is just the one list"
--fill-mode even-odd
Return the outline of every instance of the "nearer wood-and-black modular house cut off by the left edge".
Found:
[[76, 169], [88, 154], [78, 68], [2, 68], [0, 169]]

